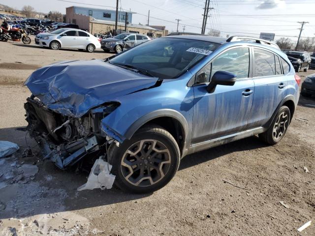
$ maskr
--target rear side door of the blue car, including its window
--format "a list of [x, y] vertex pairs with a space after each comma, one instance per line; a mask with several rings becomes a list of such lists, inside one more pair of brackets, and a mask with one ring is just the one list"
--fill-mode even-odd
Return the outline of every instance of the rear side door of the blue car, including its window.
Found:
[[284, 99], [287, 79], [282, 63], [286, 62], [267, 49], [255, 47], [252, 50], [255, 94], [249, 127], [260, 127], [266, 124]]

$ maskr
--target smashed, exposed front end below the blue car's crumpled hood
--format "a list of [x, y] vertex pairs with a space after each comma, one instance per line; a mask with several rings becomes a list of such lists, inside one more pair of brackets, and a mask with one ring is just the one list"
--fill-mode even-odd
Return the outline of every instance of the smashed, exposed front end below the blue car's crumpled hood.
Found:
[[106, 145], [114, 140], [102, 131], [101, 119], [118, 106], [117, 102], [105, 103], [76, 118], [48, 109], [32, 95], [24, 104], [27, 130], [42, 149], [43, 158], [65, 169], [87, 156], [94, 161], [106, 154]]

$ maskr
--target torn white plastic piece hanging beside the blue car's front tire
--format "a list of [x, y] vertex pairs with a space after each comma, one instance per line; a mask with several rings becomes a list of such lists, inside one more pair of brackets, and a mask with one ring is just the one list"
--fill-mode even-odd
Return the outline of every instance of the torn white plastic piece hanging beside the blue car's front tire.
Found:
[[100, 188], [101, 190], [112, 188], [115, 181], [115, 176], [110, 174], [112, 165], [101, 158], [102, 156], [95, 161], [88, 177], [88, 181], [78, 187], [78, 191], [85, 189], [93, 190], [95, 188]]

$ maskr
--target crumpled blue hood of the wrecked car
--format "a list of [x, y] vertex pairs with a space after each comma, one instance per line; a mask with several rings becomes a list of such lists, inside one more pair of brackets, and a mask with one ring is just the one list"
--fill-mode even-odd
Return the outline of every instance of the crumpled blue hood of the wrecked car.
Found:
[[91, 108], [128, 93], [154, 86], [148, 77], [102, 60], [65, 61], [42, 67], [24, 85], [47, 108], [81, 117]]

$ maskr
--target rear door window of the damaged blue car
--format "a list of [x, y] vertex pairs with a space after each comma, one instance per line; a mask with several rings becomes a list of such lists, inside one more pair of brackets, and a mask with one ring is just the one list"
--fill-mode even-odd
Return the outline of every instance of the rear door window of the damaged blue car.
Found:
[[275, 56], [268, 51], [254, 48], [255, 72], [254, 77], [275, 75]]

